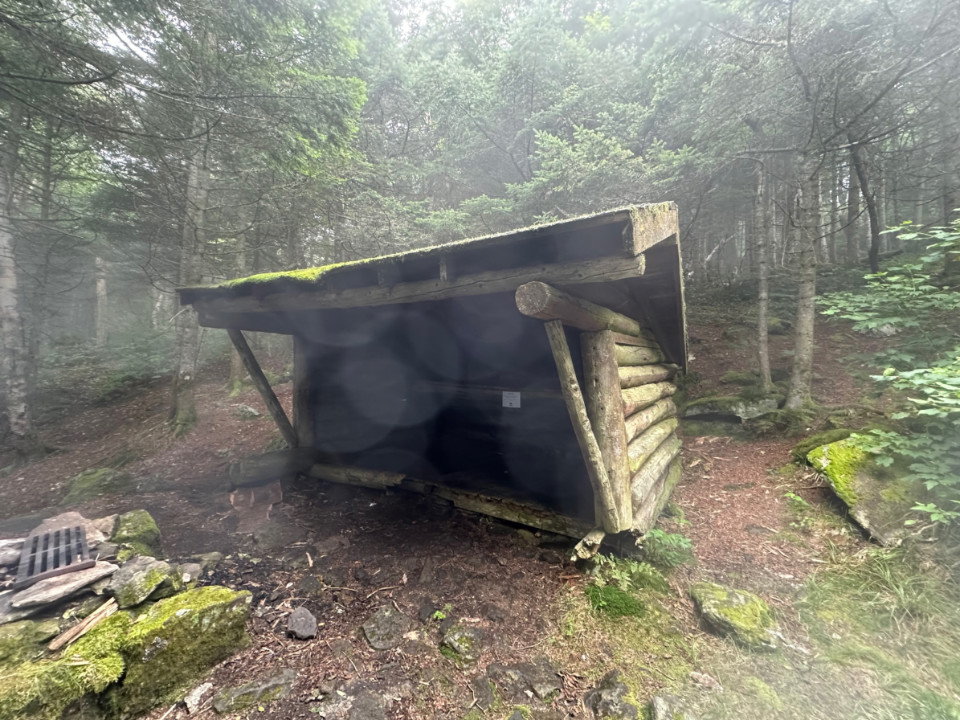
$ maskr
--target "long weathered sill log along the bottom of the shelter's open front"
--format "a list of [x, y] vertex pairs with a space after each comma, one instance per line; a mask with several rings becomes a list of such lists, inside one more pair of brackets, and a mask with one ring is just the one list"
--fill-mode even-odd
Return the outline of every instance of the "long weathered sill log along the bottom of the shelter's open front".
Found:
[[447, 500], [461, 510], [489, 515], [572, 538], [582, 538], [590, 531], [590, 525], [582, 520], [561, 515], [538, 505], [408, 478], [400, 473], [338, 465], [314, 465], [307, 474], [342, 485], [375, 489], [393, 488], [430, 495]]

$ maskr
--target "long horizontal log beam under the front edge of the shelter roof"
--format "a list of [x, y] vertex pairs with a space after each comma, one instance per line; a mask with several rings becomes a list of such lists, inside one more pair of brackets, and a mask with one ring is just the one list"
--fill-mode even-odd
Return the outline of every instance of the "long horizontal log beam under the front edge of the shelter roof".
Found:
[[277, 292], [265, 297], [243, 295], [197, 299], [194, 306], [204, 324], [208, 324], [209, 320], [210, 324], [216, 321], [217, 325], [225, 325], [229, 323], [229, 318], [216, 316], [231, 313], [296, 312], [445, 300], [452, 297], [511, 292], [531, 280], [547, 280], [568, 285], [609, 282], [638, 277], [643, 274], [643, 268], [643, 256], [598, 258], [573, 263], [475, 273], [448, 280], [435, 278], [392, 286]]

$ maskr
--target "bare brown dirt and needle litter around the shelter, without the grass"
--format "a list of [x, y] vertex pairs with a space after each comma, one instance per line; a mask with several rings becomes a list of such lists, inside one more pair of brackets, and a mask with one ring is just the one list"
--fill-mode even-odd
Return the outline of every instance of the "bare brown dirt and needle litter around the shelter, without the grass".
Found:
[[[691, 368], [701, 376], [694, 393], [724, 391], [723, 373], [753, 365], [749, 329], [731, 329], [696, 313], [691, 321], [696, 356]], [[857, 402], [862, 390], [840, 359], [869, 344], [821, 324], [814, 388], [818, 400], [831, 406]], [[775, 367], [788, 366], [788, 352], [789, 338], [774, 336]], [[253, 642], [213, 671], [214, 686], [236, 685], [281, 668], [299, 672], [288, 698], [239, 717], [315, 717], [322, 691], [352, 684], [354, 689], [369, 687], [382, 698], [389, 718], [462, 718], [476, 712], [477, 685], [471, 681], [485, 668], [539, 657], [553, 664], [562, 691], [550, 703], [537, 705], [534, 716], [589, 717], [584, 692], [606, 671], [618, 669], [623, 656], [615, 647], [615, 631], [609, 646], [602, 638], [586, 642], [577, 630], [564, 631], [589, 582], [583, 569], [566, 559], [571, 541], [519, 531], [417, 496], [302, 479], [284, 486], [282, 503], [273, 507], [269, 519], [264, 511], [262, 522], [252, 523], [260, 525], [255, 532], [237, 532], [241, 522], [242, 530], [251, 521], [238, 517], [223, 478], [231, 462], [263, 451], [276, 432], [266, 416], [238, 417], [237, 405], [260, 408], [259, 399], [252, 390], [228, 399], [217, 378], [222, 370], [211, 369], [200, 385], [200, 421], [182, 440], [169, 437], [168, 389], [160, 386], [44, 428], [46, 442], [59, 451], [0, 479], [0, 535], [22, 534], [35, 519], [59, 511], [68, 478], [122, 457], [129, 460], [123, 469], [141, 479], [140, 492], [101, 497], [76, 509], [97, 517], [145, 508], [163, 532], [169, 557], [222, 552], [227, 557], [208, 581], [253, 594]], [[277, 389], [288, 404], [290, 385]], [[729, 647], [698, 627], [684, 591], [696, 580], [760, 593], [777, 610], [798, 657], [809, 653], [794, 610], [798, 593], [823, 565], [828, 544], [855, 553], [867, 543], [835, 512], [814, 473], [784, 469], [795, 442], [686, 439], [684, 476], [674, 495], [684, 519], [664, 520], [663, 527], [692, 540], [696, 562], [670, 576], [673, 591], [661, 601], [664, 616], [682, 627], [683, 641], [675, 650], [643, 650], [637, 665], [647, 672], [638, 676], [642, 686], [631, 688], [638, 702], [665, 691], [710, 692], [704, 689], [707, 681], [687, 670], [710, 677], [731, 662]], [[838, 522], [822, 532], [804, 532], [797, 527], [787, 492], [822, 507]], [[400, 648], [378, 652], [359, 628], [382, 605], [407, 616], [416, 632]], [[300, 606], [320, 622], [315, 640], [286, 636], [286, 617]], [[438, 652], [445, 618], [483, 631], [476, 665], [461, 668]], [[679, 674], [677, 667], [683, 668]], [[509, 709], [500, 716], [509, 715]], [[814, 708], [809, 716], [833, 716], [822, 710]], [[489, 713], [481, 717], [498, 716]], [[162, 707], [148, 717], [174, 720], [187, 714], [179, 707]]]

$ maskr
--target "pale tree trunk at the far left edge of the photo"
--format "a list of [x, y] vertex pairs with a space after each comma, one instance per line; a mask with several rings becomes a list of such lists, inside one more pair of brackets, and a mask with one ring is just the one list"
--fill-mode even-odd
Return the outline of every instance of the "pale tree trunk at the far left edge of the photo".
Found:
[[21, 457], [33, 454], [38, 447], [34, 433], [29, 396], [30, 353], [24, 334], [17, 266], [14, 257], [15, 230], [10, 218], [14, 212], [14, 174], [17, 151], [8, 142], [0, 156], [0, 349], [4, 355], [7, 424], [11, 445]]

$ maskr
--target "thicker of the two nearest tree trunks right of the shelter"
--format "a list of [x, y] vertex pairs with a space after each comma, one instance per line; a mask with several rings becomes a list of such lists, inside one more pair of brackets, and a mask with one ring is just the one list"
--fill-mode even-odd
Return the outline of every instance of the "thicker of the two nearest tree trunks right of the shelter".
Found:
[[797, 318], [794, 327], [793, 372], [785, 407], [797, 410], [810, 401], [813, 378], [813, 328], [816, 317], [814, 298], [817, 291], [817, 239], [820, 236], [820, 193], [815, 156], [804, 153], [800, 167], [800, 198], [796, 224], [799, 229], [800, 263]]

